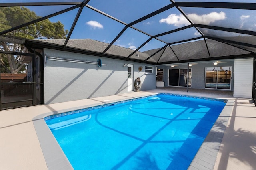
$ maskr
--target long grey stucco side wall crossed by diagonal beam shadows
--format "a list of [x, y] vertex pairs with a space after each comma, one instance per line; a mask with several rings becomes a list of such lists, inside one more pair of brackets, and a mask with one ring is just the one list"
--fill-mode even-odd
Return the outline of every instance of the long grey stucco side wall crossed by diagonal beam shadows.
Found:
[[[44, 55], [82, 61], [102, 60], [102, 67], [94, 64], [72, 63], [47, 60], [44, 63], [44, 103], [59, 103], [92, 97], [102, 97], [127, 93], [128, 68], [132, 64], [134, 77], [142, 82], [141, 90], [156, 89], [156, 73], [145, 74], [143, 63], [109, 59], [79, 53], [70, 53], [53, 49], [44, 49]], [[138, 67], [142, 66], [142, 71]]]

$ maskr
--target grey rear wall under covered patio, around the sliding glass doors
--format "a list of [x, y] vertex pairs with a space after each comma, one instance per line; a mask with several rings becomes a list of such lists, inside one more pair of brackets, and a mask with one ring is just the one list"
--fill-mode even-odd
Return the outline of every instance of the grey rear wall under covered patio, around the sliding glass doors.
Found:
[[[187, 69], [187, 64], [180, 63], [180, 64], [173, 64], [175, 65], [173, 68], [168, 65], [168, 66], [163, 66], [163, 65], [158, 65], [158, 69], [164, 69], [164, 86], [165, 87], [172, 87], [168, 86], [168, 79], [169, 79], [169, 69]], [[231, 66], [232, 67], [232, 77], [231, 77], [231, 91], [234, 89], [234, 59], [233, 60], [228, 60], [225, 61], [225, 63], [218, 63], [218, 65], [214, 66], [212, 61], [205, 61], [205, 62], [199, 62], [196, 64], [193, 64], [191, 67], [189, 67], [192, 71], [192, 78], [191, 78], [191, 87], [192, 89], [205, 89], [205, 68], [206, 67], [224, 67], [224, 66]], [[186, 87], [184, 87], [186, 88]], [[215, 89], [212, 89], [215, 90]], [[222, 89], [218, 89], [222, 90]]]

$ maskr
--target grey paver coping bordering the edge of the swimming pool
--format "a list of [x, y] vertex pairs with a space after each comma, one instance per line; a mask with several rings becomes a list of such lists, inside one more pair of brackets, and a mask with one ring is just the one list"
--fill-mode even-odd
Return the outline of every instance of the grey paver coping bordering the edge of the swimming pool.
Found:
[[[137, 97], [127, 97], [127, 99], [118, 99], [116, 101], [109, 101], [109, 102], [104, 102], [104, 103], [96, 103], [92, 105], [84, 105], [80, 107], [73, 107], [69, 109], [63, 109], [59, 111], [54, 111], [54, 112], [48, 112], [48, 113], [43, 113], [41, 115], [38, 115], [33, 118], [33, 124], [34, 128], [36, 130], [36, 134], [38, 136], [38, 140], [40, 142], [40, 146], [42, 148], [42, 152], [46, 161], [46, 165], [49, 170], [70, 170], [73, 169], [72, 165], [70, 164], [68, 158], [66, 158], [66, 155], [60, 148], [58, 142], [54, 138], [54, 135], [48, 128], [45, 122], [45, 117], [51, 116], [51, 115], [57, 115], [60, 113], [66, 113], [66, 112], [71, 112], [71, 111], [76, 111], [80, 109], [86, 109], [86, 108], [91, 108], [91, 107], [98, 107], [102, 105], [111, 105], [112, 103], [118, 103], [122, 101], [129, 101], [129, 100], [134, 100], [134, 99], [139, 99], [143, 97], [148, 97], [148, 96], [154, 96], [162, 93], [155, 93], [152, 95], [142, 95], [142, 96], [137, 96]], [[178, 95], [178, 96], [183, 96], [183, 97], [196, 97], [198, 99], [219, 99], [219, 100], [226, 100], [226, 105], [222, 112], [220, 113], [218, 119], [214, 123], [213, 127], [211, 128], [210, 132], [206, 136], [204, 142], [202, 143], [200, 149], [198, 150], [196, 156], [192, 160], [189, 170], [194, 170], [194, 169], [213, 169], [214, 164], [216, 161], [216, 157], [220, 148], [220, 144], [222, 142], [222, 138], [224, 136], [225, 129], [220, 130], [218, 128], [218, 124], [222, 123], [223, 125], [226, 125], [228, 123], [228, 117], [231, 114], [233, 105], [227, 105], [228, 103], [233, 103], [232, 99], [220, 99], [220, 98], [210, 98], [210, 97], [200, 97], [200, 96], [193, 96], [193, 95], [182, 95], [182, 94], [175, 94], [175, 93], [166, 93], [166, 94], [171, 94], [171, 95]], [[226, 127], [226, 126], [225, 126]]]

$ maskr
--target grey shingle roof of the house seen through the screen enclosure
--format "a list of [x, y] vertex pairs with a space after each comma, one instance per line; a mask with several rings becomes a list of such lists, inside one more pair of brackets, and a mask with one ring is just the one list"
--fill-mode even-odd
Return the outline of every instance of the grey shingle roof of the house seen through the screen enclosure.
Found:
[[[36, 41], [52, 43], [54, 45], [63, 45], [65, 42], [64, 39], [40, 39]], [[209, 52], [207, 51], [206, 44], [208, 46]], [[84, 51], [93, 51], [101, 55], [106, 47], [108, 47], [108, 45], [109, 43], [99, 42], [91, 39], [70, 39], [68, 41], [67, 47]], [[132, 49], [112, 45], [108, 50], [107, 54], [115, 55], [122, 59], [126, 59], [132, 52], [134, 52], [134, 50]], [[212, 57], [223, 56], [233, 57], [234, 55], [250, 54], [252, 53], [244, 49], [240, 49], [238, 47], [234, 47], [232, 45], [221, 43], [215, 40], [207, 39], [206, 42], [204, 40], [199, 40], [195, 42], [182, 43], [172, 46], [168, 45], [162, 50], [158, 48], [144, 52], [137, 51], [134, 55], [130, 56], [130, 58], [148, 61], [152, 63], [166, 63], [170, 61], [182, 62], [183, 60], [187, 61], [193, 59], [210, 59]]]

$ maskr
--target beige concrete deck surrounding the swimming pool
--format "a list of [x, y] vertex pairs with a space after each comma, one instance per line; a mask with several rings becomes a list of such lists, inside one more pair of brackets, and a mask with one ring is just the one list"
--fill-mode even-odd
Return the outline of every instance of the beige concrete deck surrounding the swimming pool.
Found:
[[252, 100], [233, 97], [232, 93], [227, 91], [189, 89], [189, 92], [186, 92], [185, 88], [157, 88], [0, 111], [0, 169], [70, 169], [72, 167], [63, 161], [65, 158], [54, 155], [52, 149], [55, 149], [56, 143], [51, 146], [52, 136], [47, 136], [49, 133], [42, 129], [45, 125], [40, 125], [42, 117], [157, 93], [228, 99], [225, 113], [218, 118], [189, 169], [256, 169], [256, 107]]

